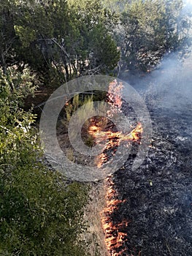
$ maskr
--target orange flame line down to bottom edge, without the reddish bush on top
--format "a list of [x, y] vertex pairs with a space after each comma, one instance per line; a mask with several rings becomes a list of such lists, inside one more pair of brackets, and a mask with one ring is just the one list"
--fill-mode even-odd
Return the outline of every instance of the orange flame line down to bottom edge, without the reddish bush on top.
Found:
[[[95, 138], [96, 143], [107, 141], [104, 145], [103, 153], [101, 153], [97, 159], [97, 166], [101, 167], [104, 162], [107, 162], [108, 160], [107, 150], [113, 150], [113, 154], [115, 154], [115, 148], [119, 146], [122, 141], [127, 143], [140, 143], [142, 124], [138, 123], [137, 127], [127, 135], [124, 135], [123, 132], [111, 132], [110, 130], [102, 131], [101, 127], [98, 127], [96, 124], [91, 125], [88, 132], [93, 136], [93, 138]], [[125, 243], [127, 241], [126, 227], [128, 222], [124, 220], [120, 223], [114, 223], [112, 214], [118, 210], [120, 204], [124, 203], [125, 200], [117, 199], [118, 195], [114, 189], [112, 176], [106, 178], [105, 187], [107, 190], [106, 207], [104, 208], [104, 211], [101, 212], [101, 224], [104, 230], [105, 244], [111, 256], [120, 256], [126, 253], [126, 249], [123, 247], [125, 247]]]

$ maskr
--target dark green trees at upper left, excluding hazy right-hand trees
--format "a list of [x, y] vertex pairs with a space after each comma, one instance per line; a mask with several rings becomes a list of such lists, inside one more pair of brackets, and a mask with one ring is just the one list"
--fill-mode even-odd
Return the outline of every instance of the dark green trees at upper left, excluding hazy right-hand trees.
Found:
[[99, 1], [4, 0], [0, 12], [4, 72], [24, 62], [42, 74], [45, 83], [59, 86], [117, 65], [119, 53], [108, 31], [115, 18]]

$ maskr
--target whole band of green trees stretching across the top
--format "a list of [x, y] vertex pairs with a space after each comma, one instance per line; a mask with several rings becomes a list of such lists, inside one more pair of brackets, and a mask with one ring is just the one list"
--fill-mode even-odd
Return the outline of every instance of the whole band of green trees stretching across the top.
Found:
[[119, 59], [121, 69], [146, 71], [188, 45], [182, 8], [182, 0], [4, 0], [1, 67], [28, 64], [50, 86], [111, 74]]

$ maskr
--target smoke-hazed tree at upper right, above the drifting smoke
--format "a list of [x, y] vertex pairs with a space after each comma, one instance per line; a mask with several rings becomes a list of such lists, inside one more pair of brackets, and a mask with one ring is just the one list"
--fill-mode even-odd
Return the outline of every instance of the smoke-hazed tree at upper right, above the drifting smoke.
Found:
[[[186, 44], [181, 0], [131, 1], [120, 15], [116, 38], [121, 48], [122, 69], [153, 69], [165, 53]], [[186, 21], [187, 22], [187, 21]]]

